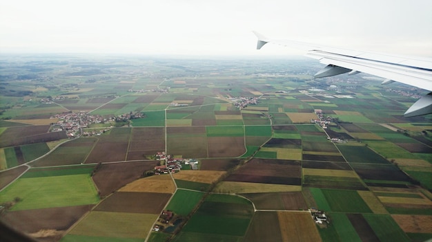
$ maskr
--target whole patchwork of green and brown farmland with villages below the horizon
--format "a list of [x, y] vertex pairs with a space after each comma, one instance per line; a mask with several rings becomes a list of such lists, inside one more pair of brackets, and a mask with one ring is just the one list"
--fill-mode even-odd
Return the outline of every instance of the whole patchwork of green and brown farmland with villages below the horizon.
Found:
[[320, 83], [303, 61], [143, 60], [5, 80], [35, 93], [3, 99], [1, 223], [66, 242], [432, 238], [432, 119], [402, 116], [411, 89]]

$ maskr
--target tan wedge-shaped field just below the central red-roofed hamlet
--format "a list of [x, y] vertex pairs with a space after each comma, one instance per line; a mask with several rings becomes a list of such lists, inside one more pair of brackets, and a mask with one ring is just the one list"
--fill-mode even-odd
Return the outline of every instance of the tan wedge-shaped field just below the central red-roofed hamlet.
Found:
[[132, 181], [119, 189], [119, 192], [160, 192], [174, 193], [175, 184], [170, 175], [153, 175]]

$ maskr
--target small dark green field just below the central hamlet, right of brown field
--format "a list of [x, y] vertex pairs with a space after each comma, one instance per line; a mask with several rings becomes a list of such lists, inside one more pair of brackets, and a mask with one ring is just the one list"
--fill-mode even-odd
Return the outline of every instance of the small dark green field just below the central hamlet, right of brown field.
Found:
[[178, 189], [168, 206], [166, 206], [166, 210], [172, 210], [175, 214], [186, 216], [197, 206], [198, 201], [203, 196], [203, 192]]

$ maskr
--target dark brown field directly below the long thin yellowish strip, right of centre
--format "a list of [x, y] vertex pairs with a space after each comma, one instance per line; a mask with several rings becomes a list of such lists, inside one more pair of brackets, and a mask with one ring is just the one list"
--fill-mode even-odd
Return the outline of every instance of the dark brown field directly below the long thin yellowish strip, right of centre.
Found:
[[257, 209], [306, 210], [308, 208], [302, 192], [248, 193], [242, 196], [251, 199]]

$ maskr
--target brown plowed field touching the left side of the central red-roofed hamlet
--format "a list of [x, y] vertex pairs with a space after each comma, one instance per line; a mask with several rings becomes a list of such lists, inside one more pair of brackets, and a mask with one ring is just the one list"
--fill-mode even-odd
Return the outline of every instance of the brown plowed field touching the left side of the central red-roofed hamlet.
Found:
[[157, 164], [157, 161], [102, 164], [92, 179], [101, 192], [101, 196], [106, 196], [131, 181], [139, 179], [145, 170], [153, 170]]

